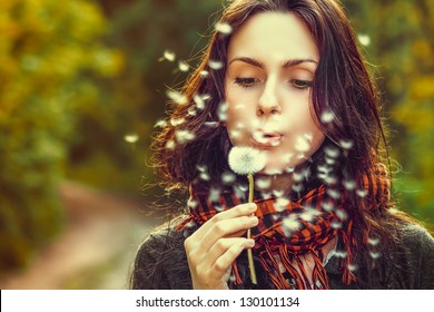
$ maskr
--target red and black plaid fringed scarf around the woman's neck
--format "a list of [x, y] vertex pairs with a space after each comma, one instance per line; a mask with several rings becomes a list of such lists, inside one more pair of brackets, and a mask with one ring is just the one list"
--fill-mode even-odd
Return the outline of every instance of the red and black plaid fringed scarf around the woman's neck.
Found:
[[[363, 182], [364, 189], [361, 191], [366, 192], [369, 208], [387, 207], [391, 194], [386, 167], [376, 165], [374, 174], [365, 176]], [[280, 208], [274, 196], [254, 201], [258, 206], [255, 215], [259, 223], [251, 228], [251, 237], [256, 241], [253, 251], [276, 289], [329, 289], [323, 265], [323, 247], [334, 237], [339, 237], [346, 248], [342, 263], [343, 282], [349, 284], [356, 281], [351, 270], [354, 261], [352, 247], [357, 246], [353, 221], [345, 209], [344, 198], [336, 201], [327, 193], [326, 186], [322, 185], [296, 202], [285, 202]], [[197, 206], [189, 208], [189, 216], [178, 225], [178, 230], [191, 222], [201, 225], [219, 211], [241, 204], [230, 192], [223, 192], [217, 203], [215, 198], [213, 202], [210, 199], [209, 193], [190, 189], [190, 201], [196, 202]], [[367, 233], [365, 236], [366, 240]], [[302, 261], [306, 255], [315, 263], [310, 279]], [[285, 276], [285, 271], [289, 279]], [[236, 262], [233, 263], [233, 274], [235, 284], [243, 283]]]

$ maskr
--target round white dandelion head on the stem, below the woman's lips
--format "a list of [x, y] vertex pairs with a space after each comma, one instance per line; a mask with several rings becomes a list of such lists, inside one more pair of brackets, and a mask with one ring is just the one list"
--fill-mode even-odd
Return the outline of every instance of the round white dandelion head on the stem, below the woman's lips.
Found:
[[265, 153], [248, 146], [234, 146], [228, 157], [230, 168], [239, 175], [255, 174], [264, 169]]

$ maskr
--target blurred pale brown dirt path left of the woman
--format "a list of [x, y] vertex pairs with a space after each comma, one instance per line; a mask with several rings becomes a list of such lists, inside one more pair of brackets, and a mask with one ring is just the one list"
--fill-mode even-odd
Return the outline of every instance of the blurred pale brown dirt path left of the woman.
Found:
[[144, 203], [73, 183], [60, 187], [65, 232], [24, 272], [2, 276], [0, 289], [127, 289], [136, 251], [161, 222]]

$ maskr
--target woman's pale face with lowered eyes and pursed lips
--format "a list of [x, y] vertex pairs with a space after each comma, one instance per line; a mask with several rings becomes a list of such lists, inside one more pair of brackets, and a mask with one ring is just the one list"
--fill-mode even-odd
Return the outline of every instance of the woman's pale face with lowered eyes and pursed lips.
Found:
[[323, 143], [310, 115], [318, 61], [308, 29], [290, 12], [258, 13], [233, 35], [225, 76], [227, 130], [234, 145], [267, 154], [263, 173], [284, 173]]

